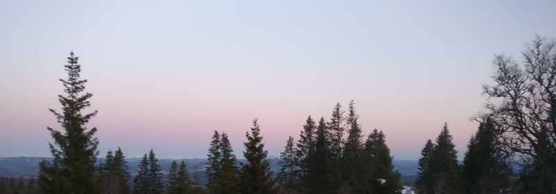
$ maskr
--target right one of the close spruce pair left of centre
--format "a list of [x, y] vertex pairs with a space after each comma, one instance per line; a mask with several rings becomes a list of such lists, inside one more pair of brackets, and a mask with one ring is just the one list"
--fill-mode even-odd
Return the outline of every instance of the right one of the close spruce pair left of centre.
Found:
[[237, 160], [234, 150], [231, 148], [228, 135], [222, 132], [220, 141], [220, 152], [222, 159], [220, 160], [220, 170], [218, 171], [218, 184], [216, 193], [237, 193], [239, 182], [239, 170], [236, 166]]

